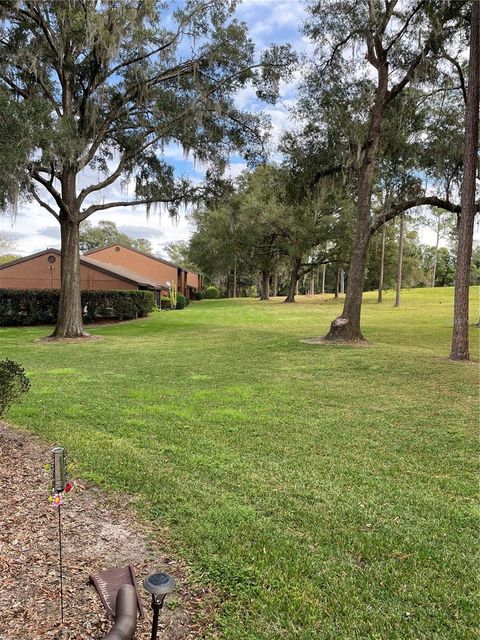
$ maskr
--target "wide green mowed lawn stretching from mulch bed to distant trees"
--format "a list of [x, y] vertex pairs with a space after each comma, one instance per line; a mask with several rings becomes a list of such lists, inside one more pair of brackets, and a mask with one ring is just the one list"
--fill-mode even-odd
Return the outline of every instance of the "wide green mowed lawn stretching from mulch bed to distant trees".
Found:
[[319, 297], [202, 301], [87, 344], [3, 329], [32, 382], [8, 419], [136, 496], [228, 640], [473, 639], [477, 367], [444, 358], [452, 301], [367, 294], [368, 348], [300, 342], [340, 313]]

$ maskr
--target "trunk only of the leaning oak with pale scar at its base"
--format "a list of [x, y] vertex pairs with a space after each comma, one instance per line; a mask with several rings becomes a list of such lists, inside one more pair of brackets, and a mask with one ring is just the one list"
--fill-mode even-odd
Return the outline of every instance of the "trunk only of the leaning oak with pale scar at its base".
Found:
[[383, 115], [387, 103], [388, 67], [379, 68], [378, 88], [375, 104], [370, 113], [368, 135], [363, 161], [358, 172], [355, 241], [348, 270], [347, 292], [342, 315], [330, 325], [327, 340], [347, 342], [362, 341], [360, 315], [362, 310], [363, 283], [367, 265], [368, 248], [372, 237], [371, 201], [373, 174], [377, 160]]

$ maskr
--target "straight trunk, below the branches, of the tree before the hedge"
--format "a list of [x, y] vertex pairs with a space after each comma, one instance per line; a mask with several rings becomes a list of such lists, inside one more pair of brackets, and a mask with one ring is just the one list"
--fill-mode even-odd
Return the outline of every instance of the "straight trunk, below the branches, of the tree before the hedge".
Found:
[[61, 289], [57, 325], [52, 338], [79, 338], [83, 331], [80, 298], [80, 223], [66, 217], [60, 219], [62, 239]]

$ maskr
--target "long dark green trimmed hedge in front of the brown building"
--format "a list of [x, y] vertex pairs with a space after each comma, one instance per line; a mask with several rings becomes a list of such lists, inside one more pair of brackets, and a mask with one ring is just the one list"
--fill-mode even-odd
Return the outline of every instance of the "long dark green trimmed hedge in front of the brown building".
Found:
[[[83, 319], [132, 320], [153, 309], [151, 291], [82, 291]], [[0, 289], [0, 326], [53, 324], [57, 320], [58, 289]]]

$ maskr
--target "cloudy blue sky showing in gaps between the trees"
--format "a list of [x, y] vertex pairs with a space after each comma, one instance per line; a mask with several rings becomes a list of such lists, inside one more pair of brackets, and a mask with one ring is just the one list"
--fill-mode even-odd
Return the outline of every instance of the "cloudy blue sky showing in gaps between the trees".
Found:
[[[297, 51], [304, 51], [308, 43], [300, 33], [304, 18], [302, 0], [243, 0], [239, 3], [237, 17], [245, 21], [249, 27], [250, 37], [260, 52], [270, 44], [290, 42]], [[288, 127], [287, 109], [295, 100], [296, 81], [281, 87], [281, 98], [278, 104], [260, 103], [255, 92], [247, 88], [237, 96], [237, 106], [268, 113], [272, 122], [272, 145], [278, 140], [282, 131]], [[185, 160], [181, 149], [170, 146], [165, 149], [167, 161], [172, 162], [180, 174], [201, 177], [201, 169], [195, 170], [190, 160]], [[245, 168], [239, 157], [231, 159], [228, 173], [237, 176]], [[84, 177], [88, 181], [88, 173]], [[97, 176], [92, 176], [96, 179]], [[104, 194], [108, 200], [118, 199], [120, 185], [114, 185]], [[125, 193], [121, 194], [124, 199]], [[185, 215], [178, 222], [172, 222], [167, 214], [152, 213], [147, 220], [144, 207], [112, 209], [99, 212], [89, 218], [95, 224], [100, 220], [113, 220], [118, 227], [132, 237], [146, 237], [155, 252], [162, 253], [165, 244], [188, 239], [193, 231]], [[16, 243], [15, 253], [28, 255], [47, 247], [60, 247], [60, 232], [57, 221], [48, 212], [41, 210], [36, 203], [20, 204], [15, 219], [6, 215], [0, 218], [0, 230], [12, 233]]]

